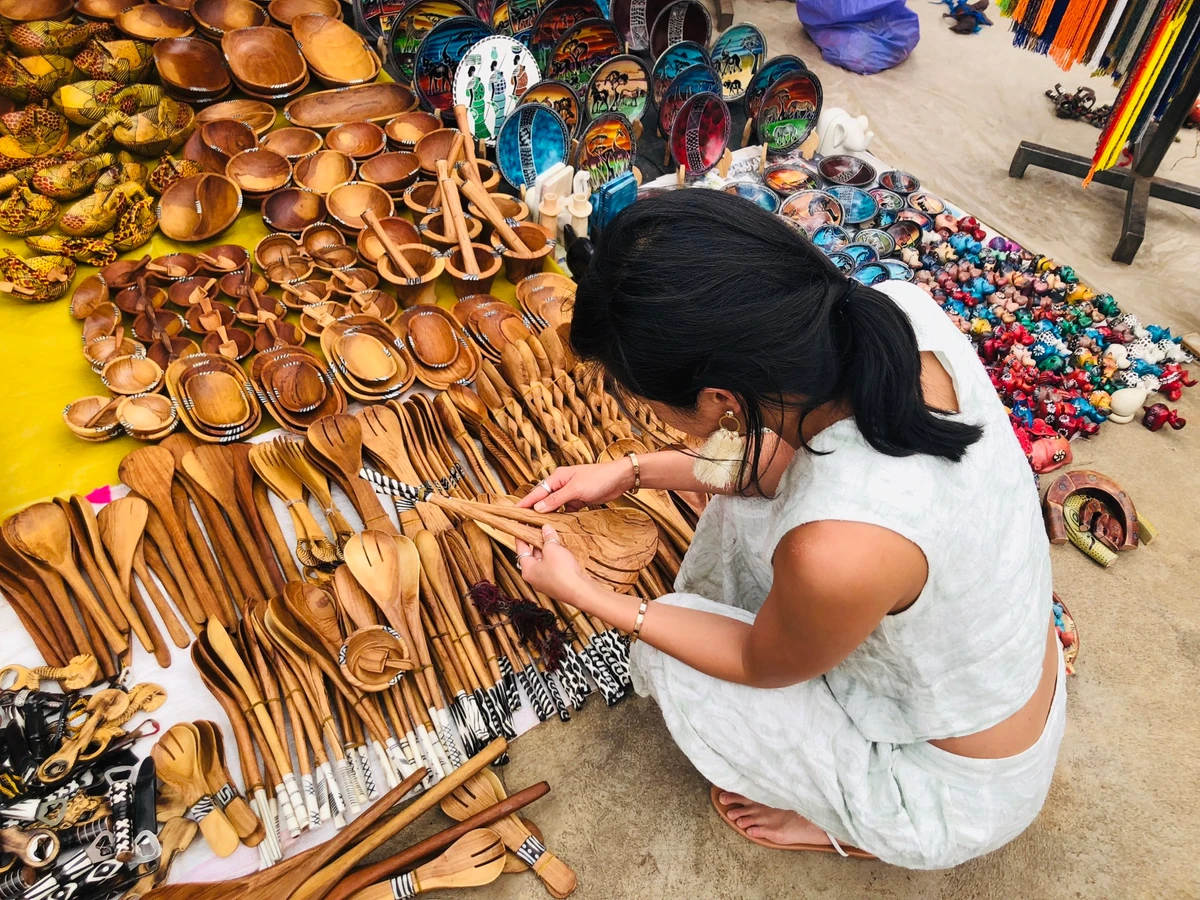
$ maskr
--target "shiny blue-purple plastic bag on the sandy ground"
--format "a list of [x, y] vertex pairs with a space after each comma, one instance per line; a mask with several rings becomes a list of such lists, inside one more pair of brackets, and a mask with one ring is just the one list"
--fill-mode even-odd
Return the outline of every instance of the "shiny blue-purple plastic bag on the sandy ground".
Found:
[[826, 62], [859, 74], [900, 65], [920, 40], [905, 0], [796, 0], [796, 14]]

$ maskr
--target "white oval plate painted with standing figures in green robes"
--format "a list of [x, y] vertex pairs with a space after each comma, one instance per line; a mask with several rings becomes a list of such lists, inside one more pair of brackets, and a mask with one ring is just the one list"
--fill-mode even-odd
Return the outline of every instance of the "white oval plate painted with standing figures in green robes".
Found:
[[505, 116], [516, 109], [517, 100], [540, 79], [528, 47], [516, 38], [493, 35], [467, 49], [455, 73], [452, 102], [467, 107], [472, 134], [491, 140]]

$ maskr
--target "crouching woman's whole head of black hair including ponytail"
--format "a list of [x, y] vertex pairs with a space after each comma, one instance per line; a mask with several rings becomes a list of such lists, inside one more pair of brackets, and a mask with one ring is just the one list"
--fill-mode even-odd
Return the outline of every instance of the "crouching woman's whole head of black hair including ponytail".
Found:
[[571, 348], [624, 390], [678, 409], [695, 409], [704, 388], [733, 394], [749, 437], [743, 486], [757, 486], [763, 410], [797, 397], [802, 424], [845, 403], [889, 456], [956, 462], [983, 433], [925, 403], [917, 337], [888, 296], [720, 191], [647, 197], [613, 218], [575, 295]]

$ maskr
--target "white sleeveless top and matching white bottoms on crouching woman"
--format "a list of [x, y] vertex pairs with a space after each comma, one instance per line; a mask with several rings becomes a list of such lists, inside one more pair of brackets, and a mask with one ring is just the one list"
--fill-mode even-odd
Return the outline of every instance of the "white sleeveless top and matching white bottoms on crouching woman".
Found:
[[[959, 463], [871, 449], [852, 419], [798, 451], [774, 498], [709, 504], [661, 599], [752, 622], [780, 539], [808, 522], [889, 528], [929, 577], [823, 677], [780, 689], [721, 682], [638, 642], [634, 686], [714, 785], [796, 810], [841, 842], [913, 869], [958, 865], [1020, 834], [1045, 802], [1066, 721], [1066, 673], [1045, 730], [1002, 760], [926, 743], [1004, 720], [1033, 695], [1050, 619], [1050, 557], [1027, 461], [973, 348], [912, 284], [883, 287], [950, 374], [983, 438]], [[850, 302], [853, 302], [851, 300]]]

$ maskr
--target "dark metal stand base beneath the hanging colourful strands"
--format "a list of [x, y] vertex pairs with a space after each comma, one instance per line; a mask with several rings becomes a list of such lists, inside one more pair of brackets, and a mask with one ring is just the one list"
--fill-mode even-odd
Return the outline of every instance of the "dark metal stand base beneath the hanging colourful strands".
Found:
[[[1093, 181], [1120, 187], [1126, 192], [1124, 222], [1121, 227], [1121, 240], [1112, 251], [1114, 260], [1126, 265], [1133, 263], [1146, 236], [1146, 208], [1151, 197], [1200, 209], [1200, 187], [1168, 181], [1156, 175], [1168, 148], [1175, 142], [1175, 136], [1183, 127], [1198, 98], [1200, 98], [1200, 55], [1192, 60], [1180, 90], [1166, 106], [1163, 118], [1157, 125], [1152, 125], [1134, 146], [1133, 166], [1128, 169], [1104, 169], [1092, 176]], [[1030, 166], [1085, 178], [1092, 168], [1092, 161], [1085, 156], [1022, 140], [1013, 155], [1008, 174], [1010, 178], [1024, 178]]]

